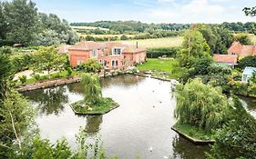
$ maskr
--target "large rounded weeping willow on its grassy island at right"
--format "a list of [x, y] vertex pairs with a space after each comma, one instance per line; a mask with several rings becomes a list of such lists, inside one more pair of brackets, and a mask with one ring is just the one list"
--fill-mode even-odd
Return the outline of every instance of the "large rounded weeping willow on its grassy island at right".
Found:
[[203, 84], [199, 78], [176, 87], [177, 107], [173, 126], [194, 144], [214, 143], [214, 130], [228, 120], [229, 104], [221, 89]]

